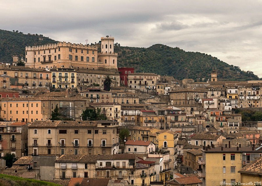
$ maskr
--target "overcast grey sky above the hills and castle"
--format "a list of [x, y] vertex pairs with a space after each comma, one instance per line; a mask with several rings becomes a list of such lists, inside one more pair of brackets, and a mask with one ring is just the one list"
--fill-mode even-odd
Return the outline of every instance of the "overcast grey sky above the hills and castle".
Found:
[[111, 35], [211, 54], [262, 77], [262, 0], [0, 1], [0, 29], [74, 43]]

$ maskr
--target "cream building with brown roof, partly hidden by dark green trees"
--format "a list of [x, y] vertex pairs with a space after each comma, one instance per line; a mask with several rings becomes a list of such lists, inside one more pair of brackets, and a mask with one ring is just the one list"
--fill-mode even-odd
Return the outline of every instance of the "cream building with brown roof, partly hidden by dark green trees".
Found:
[[108, 120], [121, 122], [121, 105], [119, 103], [89, 103], [89, 107], [100, 108]]

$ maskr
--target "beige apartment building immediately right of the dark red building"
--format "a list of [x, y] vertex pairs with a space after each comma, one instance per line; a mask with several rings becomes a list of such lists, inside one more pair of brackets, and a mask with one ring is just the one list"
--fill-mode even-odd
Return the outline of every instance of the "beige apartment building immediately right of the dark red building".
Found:
[[155, 92], [159, 77], [157, 74], [144, 72], [128, 74], [128, 86], [144, 92]]

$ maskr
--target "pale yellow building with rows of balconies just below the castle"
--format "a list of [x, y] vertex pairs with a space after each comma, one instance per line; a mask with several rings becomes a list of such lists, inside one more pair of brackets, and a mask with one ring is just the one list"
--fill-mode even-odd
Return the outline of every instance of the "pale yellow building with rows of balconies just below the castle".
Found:
[[76, 71], [72, 68], [51, 68], [53, 88], [75, 88]]

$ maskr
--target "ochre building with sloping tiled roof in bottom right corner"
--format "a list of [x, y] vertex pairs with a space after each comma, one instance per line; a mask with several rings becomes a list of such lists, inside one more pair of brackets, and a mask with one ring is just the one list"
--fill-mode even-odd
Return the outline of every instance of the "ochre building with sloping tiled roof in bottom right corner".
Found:
[[238, 173], [240, 173], [241, 183], [259, 183], [262, 182], [262, 156], [245, 166], [243, 169], [240, 169]]

